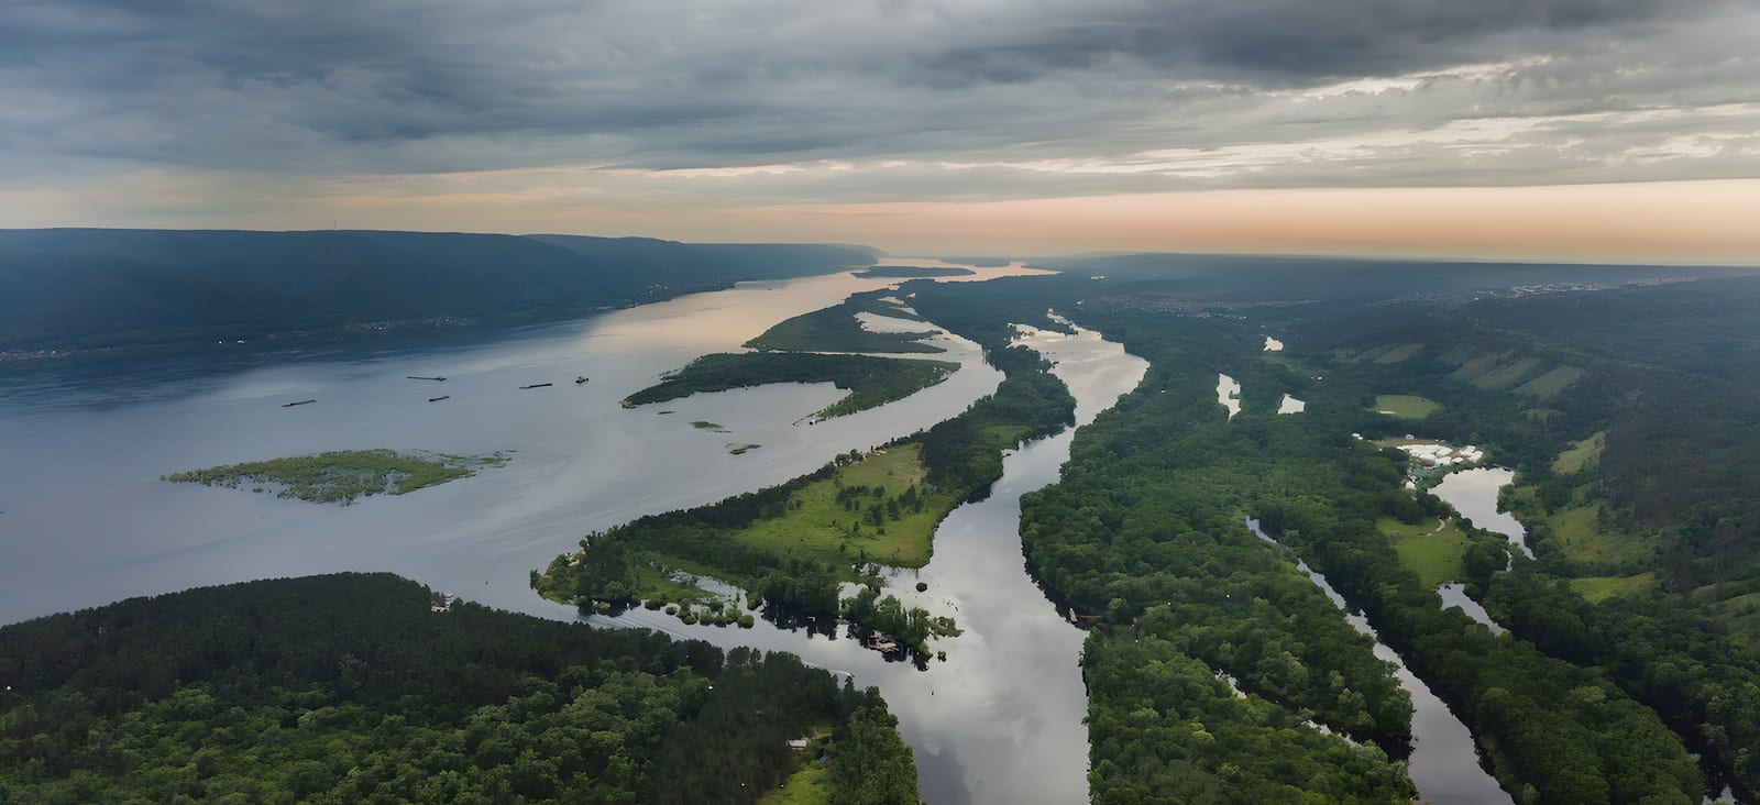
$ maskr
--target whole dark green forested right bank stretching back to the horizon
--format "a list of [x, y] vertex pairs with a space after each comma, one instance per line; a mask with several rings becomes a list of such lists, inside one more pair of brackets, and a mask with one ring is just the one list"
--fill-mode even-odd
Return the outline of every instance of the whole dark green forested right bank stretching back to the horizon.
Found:
[[[1211, 724], [1227, 722], [1234, 740], [1250, 745], [1255, 738], [1243, 726], [1253, 719], [1315, 719], [1383, 743], [1397, 740], [1368, 731], [1397, 724], [1375, 714], [1375, 687], [1364, 684], [1375, 678], [1373, 664], [1350, 659], [1368, 652], [1341, 627], [1297, 627], [1302, 617], [1324, 624], [1338, 613], [1308, 610], [1318, 594], [1311, 585], [1299, 592], [1306, 580], [1280, 561], [1280, 550], [1306, 557], [1369, 615], [1473, 729], [1517, 801], [1695, 801], [1704, 777], [1683, 740], [1751, 787], [1748, 747], [1760, 717], [1749, 703], [1760, 689], [1751, 687], [1751, 638], [1732, 640], [1742, 619], [1728, 601], [1739, 605], [1748, 594], [1751, 562], [1732, 552], [1753, 545], [1741, 511], [1755, 487], [1702, 464], [1734, 457], [1721, 450], [1746, 450], [1755, 438], [1751, 413], [1742, 413], [1755, 408], [1741, 402], [1749, 397], [1737, 381], [1749, 367], [1728, 364], [1751, 360], [1751, 350], [1735, 348], [1753, 327], [1737, 315], [1751, 285], [1707, 283], [1693, 299], [1723, 301], [1698, 308], [1695, 327], [1668, 318], [1668, 306], [1661, 322], [1637, 316], [1644, 294], [1679, 297], [1683, 286], [1463, 294], [1498, 274], [1487, 271], [1443, 279], [1440, 294], [1415, 294], [1422, 281], [1380, 271], [1401, 299], [1369, 315], [1360, 297], [1373, 288], [1350, 286], [1339, 294], [1350, 299], [1329, 301], [1324, 276], [1301, 276], [1306, 269], [1292, 265], [1234, 278], [1065, 276], [1040, 279], [1037, 301], [1028, 281], [998, 294], [996, 304], [1007, 308], [1063, 304], [1060, 311], [1077, 323], [1151, 360], [1142, 387], [1077, 434], [1061, 483], [1023, 503], [1030, 566], [1054, 596], [1100, 624], [1084, 654], [1096, 800], [1280, 784], [1320, 798], [1366, 796], [1322, 784], [1325, 773], [1297, 773], [1288, 761], [1239, 763], [1225, 742], [1192, 738], [1199, 728], [1220, 736]], [[1290, 299], [1304, 292], [1313, 297]], [[1480, 294], [1478, 302], [1468, 299]], [[1552, 315], [1522, 313], [1524, 306]], [[1556, 315], [1561, 308], [1598, 323], [1579, 327]], [[1609, 322], [1626, 320], [1624, 343], [1595, 337], [1616, 330]], [[1287, 353], [1264, 352], [1264, 327], [1290, 344]], [[1656, 337], [1633, 355], [1624, 350], [1630, 330]], [[1667, 366], [1674, 352], [1693, 360]], [[1243, 385], [1244, 410], [1232, 422], [1216, 402], [1218, 373]], [[1304, 399], [1308, 413], [1274, 415], [1285, 392]], [[1443, 410], [1422, 422], [1397, 420], [1375, 413], [1376, 394], [1422, 394]], [[1668, 422], [1663, 406], [1691, 411], [1697, 422]], [[1658, 429], [1691, 436], [1663, 445]], [[1385, 524], [1434, 522], [1452, 511], [1399, 489], [1403, 453], [1352, 438], [1413, 431], [1485, 446], [1492, 461], [1519, 469], [1519, 489], [1549, 506], [1588, 503], [1593, 511], [1593, 501], [1603, 501], [1602, 541], [1642, 550], [1572, 555], [1559, 543], [1580, 534], [1549, 534], [1542, 524], [1533, 540], [1540, 559], [1517, 557], [1505, 573], [1501, 538], [1463, 526], [1470, 541], [1454, 559], [1456, 577], [1471, 582], [1475, 596], [1491, 591], [1492, 615], [1514, 633], [1494, 638], [1459, 610], [1443, 612], [1401, 564]], [[1589, 452], [1584, 445], [1605, 450], [1586, 468], [1563, 471], [1559, 455], [1573, 446]], [[1617, 450], [1644, 450], [1660, 459], [1660, 473]], [[1695, 489], [1700, 482], [1711, 489]], [[1656, 492], [1647, 510], [1632, 497], [1624, 504], [1600, 497], [1632, 483]], [[1246, 515], [1260, 517], [1287, 548], [1248, 536]], [[1596, 575], [1640, 571], [1667, 584], [1600, 603], [1584, 598], [1612, 582]], [[1283, 584], [1288, 591], [1280, 592]], [[1163, 675], [1156, 689], [1184, 678], [1177, 685], [1184, 693], [1158, 701], [1132, 693], [1146, 664]], [[1214, 671], [1236, 678], [1253, 694], [1248, 701], [1265, 694], [1281, 707], [1260, 715], [1248, 707], [1206, 708], [1202, 701], [1220, 691], [1206, 678]], [[1302, 763], [1336, 773], [1345, 761], [1322, 747], [1306, 749]], [[1376, 791], [1399, 796], [1392, 782]]]

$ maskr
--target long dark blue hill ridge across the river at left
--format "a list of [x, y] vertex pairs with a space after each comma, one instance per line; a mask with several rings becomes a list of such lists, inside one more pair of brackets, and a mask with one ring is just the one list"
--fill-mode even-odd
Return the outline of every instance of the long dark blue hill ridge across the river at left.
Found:
[[875, 257], [642, 237], [0, 230], [0, 352], [542, 322]]

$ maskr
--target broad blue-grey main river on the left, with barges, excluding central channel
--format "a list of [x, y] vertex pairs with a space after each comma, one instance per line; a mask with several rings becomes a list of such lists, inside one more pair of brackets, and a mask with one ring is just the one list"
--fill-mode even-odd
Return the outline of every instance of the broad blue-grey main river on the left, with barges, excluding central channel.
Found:
[[[1021, 272], [979, 269], [979, 278]], [[817, 469], [954, 417], [1000, 373], [964, 367], [910, 399], [796, 425], [829, 385], [736, 390], [623, 410], [660, 373], [737, 350], [771, 323], [894, 281], [746, 283], [433, 350], [356, 352], [211, 374], [69, 374], [0, 387], [0, 622], [194, 585], [384, 569], [519, 612], [558, 615], [528, 571], [593, 529]], [[444, 374], [444, 383], [407, 380]], [[577, 374], [590, 376], [576, 385]], [[519, 390], [532, 383], [549, 388]], [[428, 397], [451, 395], [442, 402]], [[317, 399], [297, 408], [282, 402]], [[672, 415], [660, 415], [672, 410]], [[727, 434], [690, 427], [713, 420]], [[744, 455], [729, 446], [762, 445]], [[215, 464], [340, 448], [514, 450], [502, 469], [354, 506], [158, 482]]]

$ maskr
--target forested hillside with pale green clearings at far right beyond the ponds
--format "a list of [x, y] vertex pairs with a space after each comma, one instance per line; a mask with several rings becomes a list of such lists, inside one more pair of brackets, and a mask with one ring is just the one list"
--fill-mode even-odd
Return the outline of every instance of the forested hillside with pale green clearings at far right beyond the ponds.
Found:
[[[1397, 362], [1334, 362], [1329, 381], [1450, 399], [1399, 427], [1491, 445], [1517, 469], [1500, 503], [1536, 561], [1480, 569], [1471, 591], [1519, 638], [1653, 708], [1749, 794], [1760, 787], [1756, 301], [1760, 281], [1718, 278], [1491, 299], [1461, 316], [1316, 322], [1297, 337], [1309, 353], [1348, 357], [1424, 344]], [[1554, 388], [1545, 380], [1561, 367], [1577, 380]]]

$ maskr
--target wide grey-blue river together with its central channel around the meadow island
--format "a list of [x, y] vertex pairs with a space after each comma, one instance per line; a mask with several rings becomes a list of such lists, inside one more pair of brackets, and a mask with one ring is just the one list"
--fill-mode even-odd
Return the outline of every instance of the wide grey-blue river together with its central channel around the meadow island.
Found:
[[[899, 260], [922, 265], [924, 260]], [[959, 281], [1028, 272], [975, 269]], [[165, 360], [128, 374], [0, 383], [0, 624], [128, 596], [268, 577], [392, 571], [444, 592], [553, 619], [528, 573], [588, 531], [780, 483], [836, 453], [933, 425], [994, 390], [970, 341], [942, 336], [947, 381], [817, 425], [829, 383], [778, 385], [625, 410], [620, 401], [690, 359], [737, 350], [783, 318], [894, 285], [832, 274], [741, 283], [447, 346], [289, 353], [215, 373]], [[1091, 332], [1031, 332], [1089, 422], [1146, 364]], [[444, 383], [408, 376], [445, 376]], [[574, 383], [588, 376], [588, 383]], [[521, 390], [524, 385], [554, 383]], [[449, 395], [440, 402], [429, 397]], [[283, 408], [283, 402], [317, 402]], [[672, 413], [662, 413], [672, 411]], [[709, 420], [729, 432], [692, 427]], [[922, 796], [1086, 801], [1086, 694], [1070, 626], [1026, 575], [1019, 496], [1056, 480], [1067, 431], [1005, 459], [982, 503], [942, 524], [935, 559], [892, 578], [908, 605], [959, 619], [945, 661], [887, 663], [843, 635], [625, 620], [720, 645], [790, 650], [880, 685], [915, 747]], [[760, 445], [732, 453], [730, 448]], [[343, 448], [510, 452], [505, 468], [352, 506], [165, 483], [165, 473]], [[917, 592], [915, 584], [928, 584]], [[644, 620], [646, 619], [646, 620]]]

